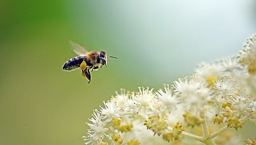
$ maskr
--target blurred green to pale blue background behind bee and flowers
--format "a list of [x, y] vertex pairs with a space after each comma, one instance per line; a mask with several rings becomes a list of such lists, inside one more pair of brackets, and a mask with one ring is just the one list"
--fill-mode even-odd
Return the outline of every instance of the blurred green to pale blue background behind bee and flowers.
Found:
[[[115, 91], [158, 90], [237, 54], [255, 32], [253, 0], [1, 1], [0, 144], [84, 144], [87, 118]], [[118, 60], [88, 85], [62, 70], [75, 56], [69, 40]]]

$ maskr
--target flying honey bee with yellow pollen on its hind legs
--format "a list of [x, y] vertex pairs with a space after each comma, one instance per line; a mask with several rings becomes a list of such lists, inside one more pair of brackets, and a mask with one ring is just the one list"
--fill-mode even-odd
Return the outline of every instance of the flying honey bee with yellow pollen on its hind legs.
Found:
[[[79, 56], [73, 57], [70, 60], [66, 61], [62, 67], [63, 70], [73, 70], [80, 68], [82, 76], [88, 79], [88, 84], [91, 83], [91, 73], [93, 70], [98, 70], [99, 67], [106, 65], [107, 67], [107, 58], [114, 56], [107, 56], [105, 51], [88, 51], [87, 49], [81, 47], [78, 43], [70, 41], [72, 50]], [[101, 66], [100, 66], [101, 65]]]

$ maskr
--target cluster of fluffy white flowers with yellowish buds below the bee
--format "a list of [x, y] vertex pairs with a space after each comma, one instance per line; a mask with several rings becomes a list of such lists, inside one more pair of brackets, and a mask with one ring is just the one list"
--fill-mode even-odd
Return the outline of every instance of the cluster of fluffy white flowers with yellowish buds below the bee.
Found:
[[94, 110], [85, 144], [240, 144], [228, 129], [256, 125], [255, 74], [253, 36], [238, 56], [202, 63], [163, 90], [116, 93]]

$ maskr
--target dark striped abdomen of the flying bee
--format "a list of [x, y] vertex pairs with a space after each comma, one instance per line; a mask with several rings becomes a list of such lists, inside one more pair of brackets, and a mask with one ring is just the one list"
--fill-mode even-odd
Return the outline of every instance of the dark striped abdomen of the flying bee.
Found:
[[74, 58], [71, 58], [70, 60], [66, 61], [63, 65], [62, 69], [65, 70], [72, 70], [80, 67], [80, 64], [82, 61], [84, 61], [85, 56], [76, 56]]

